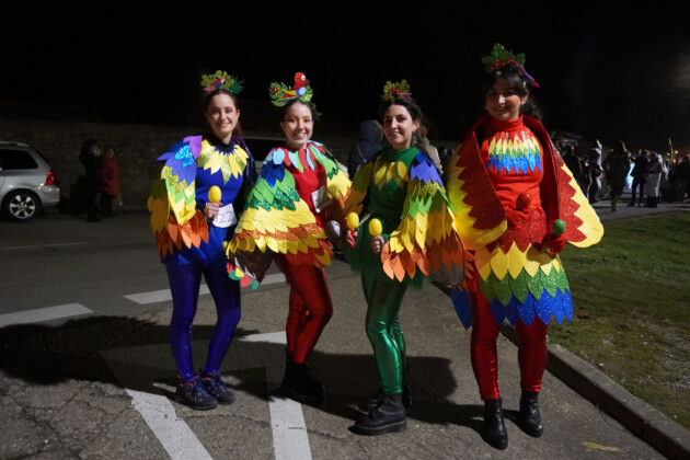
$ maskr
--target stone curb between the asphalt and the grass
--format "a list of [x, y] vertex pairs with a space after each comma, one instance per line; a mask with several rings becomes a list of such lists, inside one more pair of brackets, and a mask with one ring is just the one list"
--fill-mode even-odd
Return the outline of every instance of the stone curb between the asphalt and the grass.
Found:
[[[515, 329], [503, 325], [501, 332], [517, 345]], [[589, 363], [561, 345], [550, 344], [547, 369], [662, 455], [669, 459], [690, 458], [690, 432]]]

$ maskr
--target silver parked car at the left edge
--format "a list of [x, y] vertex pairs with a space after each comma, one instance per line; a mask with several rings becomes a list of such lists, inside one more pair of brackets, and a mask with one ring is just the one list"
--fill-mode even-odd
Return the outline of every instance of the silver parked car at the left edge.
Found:
[[0, 204], [10, 219], [27, 221], [60, 202], [60, 187], [41, 152], [0, 141]]

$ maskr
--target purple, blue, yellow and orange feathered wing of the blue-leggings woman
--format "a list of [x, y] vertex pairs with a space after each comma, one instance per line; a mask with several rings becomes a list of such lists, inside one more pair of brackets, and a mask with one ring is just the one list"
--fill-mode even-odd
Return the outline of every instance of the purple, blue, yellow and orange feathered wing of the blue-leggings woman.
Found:
[[186, 137], [158, 159], [165, 164], [151, 186], [147, 205], [161, 257], [172, 254], [173, 248], [198, 248], [208, 241], [208, 226], [196, 209], [194, 188], [202, 143], [202, 136]]

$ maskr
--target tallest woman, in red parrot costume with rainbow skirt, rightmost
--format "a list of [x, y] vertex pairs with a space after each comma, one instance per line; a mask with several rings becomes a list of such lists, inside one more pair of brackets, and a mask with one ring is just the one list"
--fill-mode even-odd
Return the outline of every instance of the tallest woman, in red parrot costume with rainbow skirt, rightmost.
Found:
[[482, 59], [487, 71], [486, 112], [449, 162], [447, 189], [456, 229], [473, 251], [478, 276], [469, 291], [453, 291], [458, 315], [472, 325], [471, 357], [484, 401], [484, 439], [505, 449], [497, 381], [496, 338], [507, 319], [519, 337], [522, 430], [542, 434], [538, 395], [552, 317], [572, 319], [573, 306], [557, 256], [566, 241], [588, 246], [603, 228], [561, 160], [542, 124], [527, 114], [538, 87], [514, 56], [496, 44]]

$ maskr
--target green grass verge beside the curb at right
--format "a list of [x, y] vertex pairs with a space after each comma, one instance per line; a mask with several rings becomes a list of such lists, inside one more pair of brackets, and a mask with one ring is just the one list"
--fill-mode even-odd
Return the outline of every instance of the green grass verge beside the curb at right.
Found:
[[549, 340], [690, 429], [690, 214], [607, 222], [566, 248], [572, 323]]

